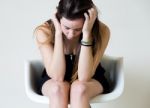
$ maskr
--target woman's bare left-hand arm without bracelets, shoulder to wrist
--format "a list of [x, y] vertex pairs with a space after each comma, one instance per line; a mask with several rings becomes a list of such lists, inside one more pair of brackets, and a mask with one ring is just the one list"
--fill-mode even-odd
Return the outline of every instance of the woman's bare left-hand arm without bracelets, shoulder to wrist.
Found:
[[64, 79], [65, 74], [65, 59], [63, 53], [62, 36], [61, 34], [55, 35], [54, 46], [50, 42], [46, 44], [41, 44], [41, 42], [46, 42], [46, 40], [48, 39], [47, 35], [51, 37], [52, 33], [46, 27], [43, 29], [37, 29], [36, 30], [37, 45], [42, 55], [42, 59], [47, 74], [54, 80], [62, 81]]

